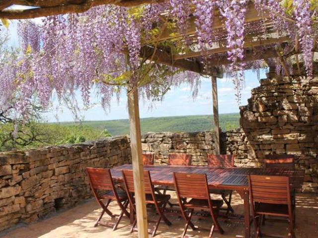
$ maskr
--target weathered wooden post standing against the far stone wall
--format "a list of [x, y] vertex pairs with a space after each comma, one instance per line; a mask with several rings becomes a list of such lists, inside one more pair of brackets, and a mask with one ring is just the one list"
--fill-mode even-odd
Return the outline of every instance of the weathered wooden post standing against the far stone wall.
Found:
[[218, 87], [217, 77], [212, 76], [212, 96], [213, 96], [213, 118], [214, 118], [214, 133], [215, 133], [215, 153], [219, 155], [220, 149], [220, 123], [219, 123], [219, 107], [218, 107]]

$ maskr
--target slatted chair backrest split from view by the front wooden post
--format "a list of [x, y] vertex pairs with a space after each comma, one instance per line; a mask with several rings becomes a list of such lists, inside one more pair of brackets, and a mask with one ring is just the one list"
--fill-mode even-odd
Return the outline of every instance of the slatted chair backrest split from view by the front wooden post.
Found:
[[[133, 171], [123, 170], [122, 173], [126, 191], [135, 192]], [[153, 182], [151, 180], [150, 172], [148, 170], [144, 170], [144, 186], [146, 194], [154, 193]]]

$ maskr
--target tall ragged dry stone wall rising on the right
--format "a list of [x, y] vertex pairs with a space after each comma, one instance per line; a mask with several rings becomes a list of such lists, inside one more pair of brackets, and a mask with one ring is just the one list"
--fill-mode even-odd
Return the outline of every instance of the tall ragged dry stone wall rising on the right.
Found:
[[261, 80], [240, 116], [237, 143], [246, 145], [239, 149], [242, 158], [261, 166], [266, 154], [294, 154], [296, 166], [306, 170], [306, 190], [318, 192], [317, 74], [311, 79], [274, 74]]

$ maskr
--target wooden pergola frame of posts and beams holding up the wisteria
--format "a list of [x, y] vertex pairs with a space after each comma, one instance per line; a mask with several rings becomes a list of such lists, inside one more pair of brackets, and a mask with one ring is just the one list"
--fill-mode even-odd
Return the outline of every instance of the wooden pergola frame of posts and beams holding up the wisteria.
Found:
[[[5, 19], [26, 19], [35, 18], [56, 14], [79, 13], [88, 10], [89, 8], [102, 4], [116, 4], [120, 6], [136, 6], [144, 3], [160, 3], [164, 0], [0, 0], [0, 18]], [[33, 8], [23, 10], [6, 9], [7, 7], [18, 4], [30, 6]], [[168, 21], [166, 17], [162, 16], [162, 21]], [[264, 26], [266, 34], [250, 32], [245, 34], [244, 51], [245, 56], [243, 61], [266, 60], [268, 58], [278, 58], [283, 67], [286, 68], [286, 59], [282, 55], [280, 47], [290, 42], [291, 39], [286, 35], [279, 35], [275, 32], [273, 23], [270, 21], [268, 14], [259, 15], [253, 3], [248, 5], [245, 16], [245, 23], [259, 22]], [[220, 14], [216, 14], [214, 19], [215, 30], [224, 29], [224, 20]], [[173, 33], [173, 34], [172, 34]], [[194, 17], [189, 20], [189, 28], [185, 34], [189, 39], [196, 40], [196, 29], [194, 24]], [[231, 61], [227, 59], [227, 47], [224, 42], [215, 44], [204, 51], [194, 49], [192, 52], [186, 54], [171, 54], [168, 49], [158, 47], [159, 42], [182, 40], [185, 36], [178, 33], [176, 28], [163, 27], [157, 38], [153, 41], [143, 43], [141, 50], [141, 57], [152, 59], [158, 63], [178, 67], [180, 69], [193, 71], [202, 75], [211, 77], [212, 94], [213, 94], [213, 114], [215, 126], [215, 148], [216, 153], [220, 154], [220, 128], [218, 115], [218, 96], [217, 96], [217, 78], [223, 77], [223, 71], [219, 66], [230, 64]], [[316, 43], [314, 49], [316, 50]], [[255, 54], [260, 49], [266, 48], [266, 51]], [[298, 49], [295, 47], [288, 56], [295, 55], [298, 59]], [[285, 70], [286, 72], [288, 70]], [[147, 230], [147, 213], [144, 194], [143, 181], [143, 160], [141, 147], [141, 131], [140, 131], [140, 117], [139, 117], [139, 103], [138, 91], [131, 90], [128, 93], [128, 108], [129, 108], [129, 123], [131, 136], [131, 151], [132, 164], [134, 171], [134, 182], [136, 192], [136, 207], [137, 207], [137, 224], [140, 238], [148, 237]]]

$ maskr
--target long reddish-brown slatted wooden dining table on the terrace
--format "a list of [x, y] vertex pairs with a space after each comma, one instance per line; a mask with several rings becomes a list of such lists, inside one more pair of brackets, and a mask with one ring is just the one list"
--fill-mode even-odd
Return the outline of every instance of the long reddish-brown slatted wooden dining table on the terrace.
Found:
[[[111, 169], [113, 179], [122, 181], [122, 170], [132, 170], [132, 165], [121, 165]], [[173, 185], [173, 172], [206, 174], [210, 188], [236, 190], [244, 200], [244, 237], [250, 238], [250, 204], [247, 175], [286, 176], [292, 188], [302, 186], [305, 171], [284, 168], [212, 168], [206, 166], [144, 166], [149, 170], [153, 184]]]

